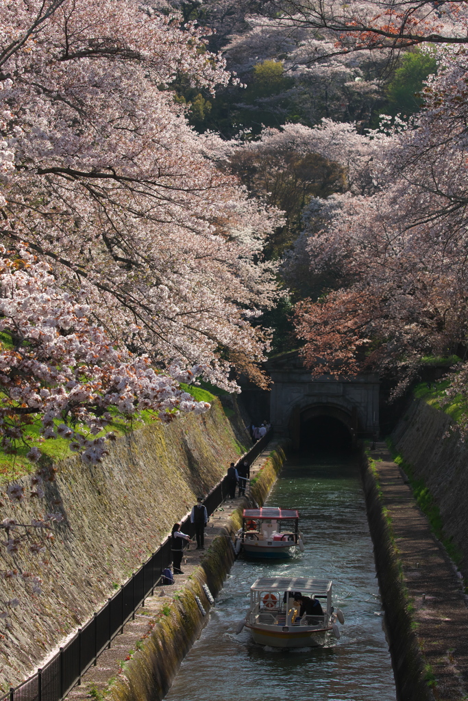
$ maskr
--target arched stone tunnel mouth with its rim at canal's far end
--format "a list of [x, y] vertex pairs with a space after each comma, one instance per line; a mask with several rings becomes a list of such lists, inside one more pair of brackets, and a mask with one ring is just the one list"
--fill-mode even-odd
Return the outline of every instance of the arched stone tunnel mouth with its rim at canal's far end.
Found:
[[316, 403], [297, 406], [290, 415], [289, 435], [295, 450], [307, 447], [308, 441], [320, 443], [320, 437], [324, 445], [332, 440], [342, 447], [354, 447], [358, 430], [359, 417], [354, 407]]

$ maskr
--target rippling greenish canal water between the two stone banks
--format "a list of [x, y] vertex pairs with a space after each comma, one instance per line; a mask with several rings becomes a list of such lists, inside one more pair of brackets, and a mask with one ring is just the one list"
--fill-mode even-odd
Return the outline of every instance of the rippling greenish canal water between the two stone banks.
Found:
[[[299, 509], [305, 552], [288, 562], [234, 563], [166, 701], [395, 701], [356, 460], [330, 451], [290, 459], [267, 504]], [[340, 639], [282, 651], [256, 645], [246, 629], [236, 635], [260, 576], [332, 579], [333, 605], [345, 615]]]

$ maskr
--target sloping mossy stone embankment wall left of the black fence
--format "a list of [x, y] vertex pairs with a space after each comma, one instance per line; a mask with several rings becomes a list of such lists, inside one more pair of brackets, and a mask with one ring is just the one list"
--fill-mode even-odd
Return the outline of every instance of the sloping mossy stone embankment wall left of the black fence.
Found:
[[[29, 676], [98, 611], [249, 444], [243, 424], [234, 433], [216, 399], [206, 414], [119, 438], [100, 465], [78, 458], [57, 463], [57, 480], [47, 484], [42, 503], [15, 507], [7, 500], [4, 517], [23, 522], [56, 511], [60, 501], [65, 520], [55, 528], [48, 566], [27, 549], [15, 562], [20, 571], [40, 574], [41, 597], [31, 596], [22, 580], [0, 580], [1, 599], [21, 601], [11, 613], [11, 631], [0, 637], [0, 689]], [[0, 560], [0, 569], [11, 568], [3, 549]]]

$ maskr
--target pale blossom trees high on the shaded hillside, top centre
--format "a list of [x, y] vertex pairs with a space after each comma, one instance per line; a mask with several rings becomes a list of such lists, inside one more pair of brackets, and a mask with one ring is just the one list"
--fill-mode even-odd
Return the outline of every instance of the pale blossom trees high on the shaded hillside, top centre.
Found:
[[[286, 25], [281, 15], [248, 15], [246, 21], [248, 29], [231, 36], [225, 47], [227, 64], [250, 83], [255, 67], [281, 57], [283, 76], [293, 81], [284, 97], [295, 121], [300, 116], [309, 125], [323, 117], [367, 122], [373, 109], [384, 102], [385, 81], [380, 75], [387, 66], [385, 53], [335, 55], [333, 36], [305, 25]], [[243, 95], [237, 100], [243, 102]], [[274, 96], [268, 106], [277, 110]]]

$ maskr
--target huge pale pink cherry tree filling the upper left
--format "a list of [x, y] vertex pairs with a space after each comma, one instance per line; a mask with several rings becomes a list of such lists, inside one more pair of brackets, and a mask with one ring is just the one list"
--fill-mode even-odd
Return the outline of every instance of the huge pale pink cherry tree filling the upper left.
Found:
[[[169, 89], [180, 72], [210, 90], [227, 83], [222, 60], [203, 48], [201, 30], [131, 0], [37, 0], [0, 13], [2, 313], [30, 382], [13, 388], [18, 368], [2, 348], [8, 400], [29, 393], [29, 416], [44, 359], [36, 413], [55, 421], [65, 411], [64, 426], [102, 428], [121, 388], [123, 414], [146, 404], [164, 413], [165, 392], [180, 407], [174, 379], [193, 367], [234, 390], [232, 365], [255, 374], [267, 342], [249, 320], [276, 294], [261, 252], [278, 215], [203, 155]], [[15, 254], [26, 264], [13, 271]], [[49, 301], [38, 311], [41, 294]], [[29, 328], [36, 313], [53, 328], [54, 311], [60, 339]], [[88, 353], [85, 339], [95, 344]], [[49, 410], [54, 362], [51, 405], [60, 393], [64, 404]]]

